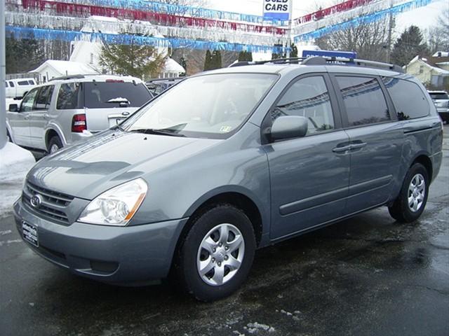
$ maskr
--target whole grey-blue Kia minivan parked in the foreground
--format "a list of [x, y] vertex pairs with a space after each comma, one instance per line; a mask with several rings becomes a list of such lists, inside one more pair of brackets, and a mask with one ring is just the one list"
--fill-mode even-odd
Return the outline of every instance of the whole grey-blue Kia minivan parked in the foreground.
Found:
[[337, 61], [352, 63], [183, 80], [38, 162], [14, 204], [18, 231], [74, 274], [121, 285], [172, 274], [208, 301], [241, 286], [256, 248], [381, 206], [417, 220], [443, 156], [429, 94], [398, 66]]

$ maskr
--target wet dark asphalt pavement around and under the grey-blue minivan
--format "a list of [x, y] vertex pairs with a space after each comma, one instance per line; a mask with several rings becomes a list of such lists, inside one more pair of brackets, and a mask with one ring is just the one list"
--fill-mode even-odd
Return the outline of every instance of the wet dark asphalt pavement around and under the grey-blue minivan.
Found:
[[375, 209], [257, 251], [241, 290], [108, 286], [35, 255], [0, 219], [0, 335], [449, 335], [449, 127], [420, 221]]

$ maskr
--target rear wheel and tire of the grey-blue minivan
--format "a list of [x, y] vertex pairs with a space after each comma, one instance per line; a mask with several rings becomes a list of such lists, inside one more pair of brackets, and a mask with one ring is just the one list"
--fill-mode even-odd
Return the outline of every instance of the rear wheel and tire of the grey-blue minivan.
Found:
[[420, 218], [429, 194], [429, 173], [420, 163], [415, 163], [406, 174], [401, 192], [388, 208], [398, 222], [410, 223]]

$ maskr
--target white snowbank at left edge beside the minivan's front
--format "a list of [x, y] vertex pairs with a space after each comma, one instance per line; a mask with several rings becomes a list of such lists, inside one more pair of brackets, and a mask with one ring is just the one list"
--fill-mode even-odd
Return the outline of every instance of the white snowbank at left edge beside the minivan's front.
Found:
[[0, 149], [0, 218], [13, 211], [25, 176], [36, 161], [31, 152], [11, 142]]

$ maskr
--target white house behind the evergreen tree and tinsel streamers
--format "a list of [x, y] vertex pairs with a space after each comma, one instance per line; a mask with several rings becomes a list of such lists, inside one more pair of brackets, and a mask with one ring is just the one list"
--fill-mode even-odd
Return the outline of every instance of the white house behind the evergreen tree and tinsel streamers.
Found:
[[[119, 24], [127, 23], [116, 18], [105, 18], [102, 16], [92, 16], [90, 19], [89, 24], [83, 27], [81, 31], [101, 31], [105, 34], [119, 34], [119, 30], [117, 28], [119, 27]], [[148, 29], [152, 28], [152, 25], [149, 22], [142, 22], [142, 25], [147, 25]], [[161, 35], [154, 36], [163, 37]], [[101, 46], [102, 44], [100, 41], [73, 41], [71, 43], [72, 54], [70, 55], [70, 60], [88, 64], [98, 72], [105, 73], [106, 70], [102, 69], [102, 66], [100, 65]], [[158, 52], [166, 55], [168, 53], [168, 49], [158, 48]], [[179, 76], [180, 73], [185, 73], [185, 69], [174, 59], [167, 58], [166, 65], [159, 77], [172, 78]]]

